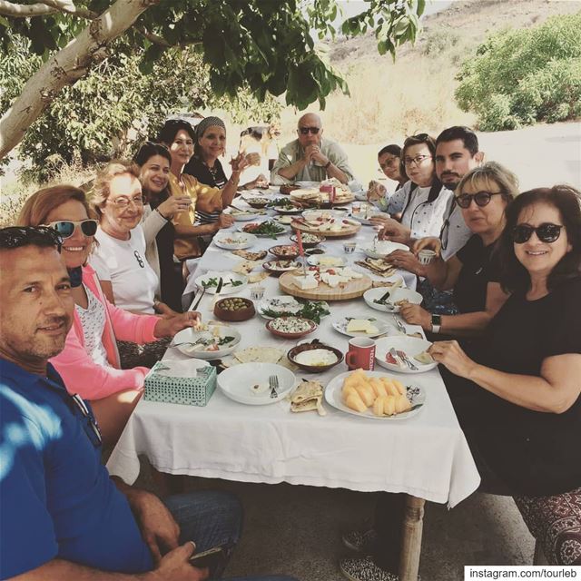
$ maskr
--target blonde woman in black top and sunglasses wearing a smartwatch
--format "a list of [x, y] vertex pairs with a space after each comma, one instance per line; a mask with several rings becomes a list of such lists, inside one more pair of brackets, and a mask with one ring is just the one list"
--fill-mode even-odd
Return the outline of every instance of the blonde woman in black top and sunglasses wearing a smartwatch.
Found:
[[[468, 172], [458, 183], [455, 202], [473, 232], [455, 256], [443, 261], [438, 238], [419, 240], [414, 252], [433, 250], [438, 256], [422, 266], [421, 276], [440, 291], [453, 289], [460, 314], [434, 316], [419, 305], [401, 307], [402, 317], [424, 330], [446, 335], [476, 335], [507, 300], [497, 276], [493, 258], [497, 240], [505, 227], [505, 212], [518, 193], [517, 177], [496, 162]], [[394, 253], [395, 254], [395, 253]]]

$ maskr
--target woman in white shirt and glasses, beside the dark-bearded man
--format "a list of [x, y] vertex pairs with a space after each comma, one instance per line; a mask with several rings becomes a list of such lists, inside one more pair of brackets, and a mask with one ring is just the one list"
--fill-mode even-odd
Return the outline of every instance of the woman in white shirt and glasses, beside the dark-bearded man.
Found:
[[384, 240], [411, 244], [426, 236], [439, 236], [444, 216], [453, 194], [436, 175], [436, 142], [428, 133], [419, 133], [406, 139], [401, 150], [401, 174], [409, 182], [388, 198], [387, 211], [401, 214], [401, 222], [378, 216], [371, 219], [383, 227]]

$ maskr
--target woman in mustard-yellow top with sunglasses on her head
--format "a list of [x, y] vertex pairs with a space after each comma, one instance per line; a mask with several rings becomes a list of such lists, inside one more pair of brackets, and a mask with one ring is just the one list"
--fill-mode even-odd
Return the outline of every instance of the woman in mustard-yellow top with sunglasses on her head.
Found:
[[[230, 228], [234, 223], [229, 214], [222, 212], [231, 199], [222, 200], [221, 190], [198, 182], [192, 175], [184, 173], [186, 164], [192, 159], [195, 140], [192, 125], [181, 119], [166, 121], [158, 136], [158, 141], [167, 146], [172, 156], [170, 192], [173, 196], [185, 195], [192, 200], [189, 212], [179, 212], [173, 218], [173, 253], [180, 261], [202, 256], [212, 236], [222, 228]], [[200, 212], [216, 220], [202, 223]]]

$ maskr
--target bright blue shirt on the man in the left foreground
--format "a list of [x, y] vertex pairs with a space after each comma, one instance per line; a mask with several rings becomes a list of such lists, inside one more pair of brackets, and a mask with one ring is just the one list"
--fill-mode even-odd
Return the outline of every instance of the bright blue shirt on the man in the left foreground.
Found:
[[153, 568], [90, 422], [49, 364], [44, 378], [0, 359], [0, 578], [54, 558], [103, 571]]

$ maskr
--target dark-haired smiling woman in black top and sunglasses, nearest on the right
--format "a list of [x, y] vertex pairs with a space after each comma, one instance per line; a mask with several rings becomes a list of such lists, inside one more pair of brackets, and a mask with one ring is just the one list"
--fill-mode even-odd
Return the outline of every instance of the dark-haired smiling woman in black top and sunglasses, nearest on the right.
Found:
[[485, 335], [430, 353], [480, 468], [515, 497], [552, 565], [581, 565], [581, 193], [520, 194], [499, 241], [512, 293]]

